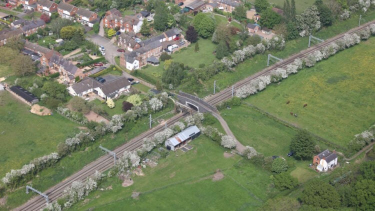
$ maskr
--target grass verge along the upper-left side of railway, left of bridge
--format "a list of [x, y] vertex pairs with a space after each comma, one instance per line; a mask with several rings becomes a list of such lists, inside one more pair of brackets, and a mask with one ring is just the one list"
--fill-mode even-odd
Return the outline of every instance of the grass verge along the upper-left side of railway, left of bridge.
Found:
[[[170, 102], [168, 106], [163, 110], [152, 113], [152, 116], [160, 116], [171, 111], [173, 108], [174, 105]], [[163, 118], [168, 119], [173, 115], [174, 113], [167, 114], [164, 115]], [[152, 126], [155, 125], [153, 124]], [[127, 122], [119, 132], [115, 134], [109, 133], [97, 140], [91, 146], [82, 148], [80, 151], [73, 152], [71, 153], [71, 155], [62, 158], [55, 167], [50, 167], [39, 172], [39, 176], [32, 179], [32, 186], [40, 191], [45, 191], [49, 187], [57, 184], [74, 172], [80, 170], [86, 164], [104, 155], [102, 150], [100, 150], [98, 147], [100, 144], [112, 150], [146, 130], [148, 130], [148, 116], [143, 116], [136, 122]], [[53, 148], [51, 148], [50, 150], [54, 149], [55, 146], [53, 146]], [[19, 155], [19, 153], [17, 155]], [[6, 204], [5, 206], [0, 206], [0, 210], [10, 210], [12, 208], [15, 208], [35, 195], [37, 194], [25, 194], [24, 187], [20, 187], [11, 193], [7, 193]]]

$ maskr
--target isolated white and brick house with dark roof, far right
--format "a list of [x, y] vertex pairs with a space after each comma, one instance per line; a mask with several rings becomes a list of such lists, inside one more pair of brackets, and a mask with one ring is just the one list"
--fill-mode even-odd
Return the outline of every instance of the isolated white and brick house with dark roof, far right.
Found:
[[325, 172], [337, 165], [336, 152], [334, 150], [331, 152], [328, 149], [325, 149], [314, 156], [312, 163], [316, 166], [316, 170]]

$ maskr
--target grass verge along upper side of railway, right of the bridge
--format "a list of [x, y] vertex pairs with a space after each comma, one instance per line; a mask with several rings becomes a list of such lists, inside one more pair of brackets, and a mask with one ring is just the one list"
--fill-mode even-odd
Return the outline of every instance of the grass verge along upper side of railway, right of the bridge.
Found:
[[[367, 11], [365, 14], [367, 21], [375, 19], [375, 10]], [[353, 14], [351, 18], [345, 21], [338, 21], [332, 26], [322, 28], [317, 33], [313, 34], [314, 36], [327, 39], [329, 37], [335, 36], [339, 33], [350, 30], [351, 28], [358, 26], [358, 16]], [[228, 86], [231, 86], [238, 80], [244, 79], [247, 76], [250, 76], [258, 71], [267, 67], [267, 54], [271, 53], [274, 56], [279, 58], [287, 58], [293, 53], [297, 53], [303, 49], [307, 48], [308, 37], [299, 37], [290, 41], [286, 41], [285, 48], [281, 51], [267, 51], [263, 54], [257, 54], [249, 59], [244, 60], [242, 63], [237, 65], [232, 72], [220, 72], [212, 76], [209, 80], [203, 81], [203, 88], [197, 92], [200, 97], [204, 97], [213, 92], [213, 81], [216, 80], [216, 91], [220, 91]], [[201, 46], [199, 45], [201, 49]], [[212, 55], [213, 56], [213, 55]], [[181, 57], [182, 59], [183, 57]], [[208, 65], [208, 63], [206, 63]], [[182, 84], [179, 87], [182, 91], [188, 92], [189, 87]]]

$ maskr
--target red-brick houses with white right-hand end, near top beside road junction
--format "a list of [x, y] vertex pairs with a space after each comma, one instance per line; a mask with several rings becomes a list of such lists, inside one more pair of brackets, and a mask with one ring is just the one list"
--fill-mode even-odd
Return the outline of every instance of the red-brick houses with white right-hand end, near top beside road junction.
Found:
[[142, 14], [130, 16], [125, 15], [122, 17], [120, 11], [115, 8], [105, 12], [103, 18], [103, 26], [107, 28], [120, 28], [121, 32], [139, 32], [140, 27], [142, 26], [142, 21], [139, 19], [143, 17]]

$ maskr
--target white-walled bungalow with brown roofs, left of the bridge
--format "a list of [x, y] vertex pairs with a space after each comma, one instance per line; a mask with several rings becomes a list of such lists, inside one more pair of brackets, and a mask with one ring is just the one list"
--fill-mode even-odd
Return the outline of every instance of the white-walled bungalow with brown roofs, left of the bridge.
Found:
[[116, 98], [121, 92], [128, 91], [130, 83], [126, 77], [121, 76], [104, 84], [92, 77], [85, 77], [80, 82], [69, 86], [67, 89], [71, 95], [83, 96], [94, 92], [103, 99]]

